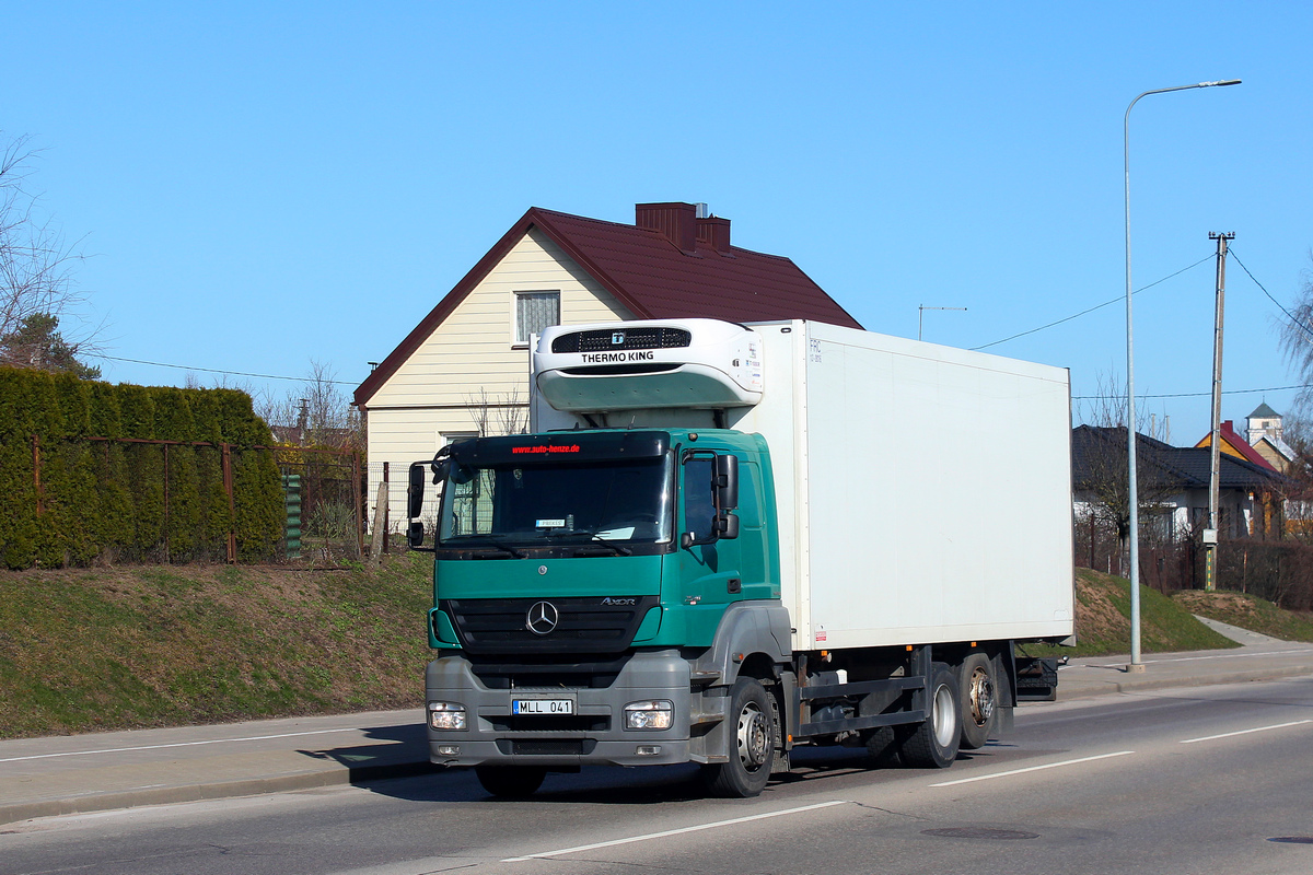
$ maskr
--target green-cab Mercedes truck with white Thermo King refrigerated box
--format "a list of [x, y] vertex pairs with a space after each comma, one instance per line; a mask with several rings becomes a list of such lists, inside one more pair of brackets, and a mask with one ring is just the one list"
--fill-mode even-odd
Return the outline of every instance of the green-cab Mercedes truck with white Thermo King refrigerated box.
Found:
[[821, 744], [947, 767], [1011, 725], [1016, 644], [1073, 635], [1066, 370], [702, 319], [532, 358], [532, 433], [410, 478], [431, 758], [487, 791], [696, 762], [754, 796]]

